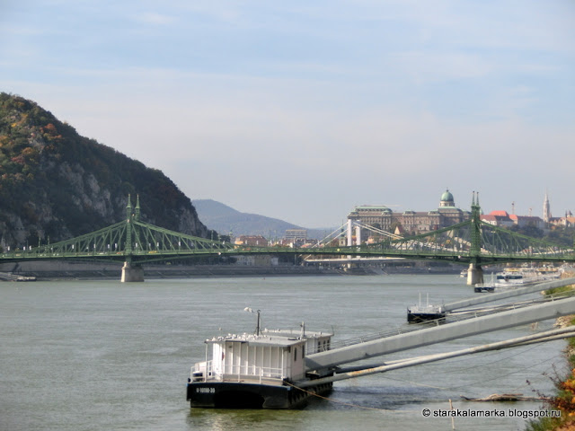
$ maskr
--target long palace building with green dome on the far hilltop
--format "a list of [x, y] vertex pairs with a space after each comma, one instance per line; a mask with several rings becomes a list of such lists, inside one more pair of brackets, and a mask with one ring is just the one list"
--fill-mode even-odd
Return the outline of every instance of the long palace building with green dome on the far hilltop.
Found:
[[[446, 189], [441, 195], [439, 207], [430, 211], [412, 211], [409, 209], [403, 213], [394, 213], [385, 206], [364, 205], [354, 207], [348, 216], [348, 219], [369, 224], [389, 233], [407, 235], [436, 231], [470, 218], [471, 213], [469, 211], [456, 207], [456, 201], [449, 189]], [[364, 230], [362, 237], [364, 234], [369, 233]], [[367, 238], [362, 238], [362, 241], [366, 240]]]

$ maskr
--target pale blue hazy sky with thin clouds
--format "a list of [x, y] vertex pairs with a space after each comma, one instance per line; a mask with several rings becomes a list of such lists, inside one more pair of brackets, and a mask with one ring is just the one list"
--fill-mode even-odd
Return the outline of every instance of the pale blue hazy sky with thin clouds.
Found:
[[572, 0], [0, 0], [0, 91], [191, 199], [575, 212]]

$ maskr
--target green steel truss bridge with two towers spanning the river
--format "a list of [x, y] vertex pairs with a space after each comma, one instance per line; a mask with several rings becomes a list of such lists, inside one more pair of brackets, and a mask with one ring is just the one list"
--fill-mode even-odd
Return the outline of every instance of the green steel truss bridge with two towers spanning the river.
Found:
[[173, 259], [253, 254], [433, 259], [468, 264], [480, 270], [482, 265], [504, 262], [575, 262], [573, 247], [513, 233], [482, 222], [480, 215], [479, 201], [473, 195], [470, 220], [429, 233], [351, 246], [328, 243], [314, 248], [253, 247], [210, 241], [145, 223], [140, 219], [139, 198], [136, 207], [131, 206], [128, 198], [125, 220], [66, 241], [4, 251], [0, 262], [118, 260], [126, 262], [126, 268], [126, 265], [140, 267], [144, 263]]

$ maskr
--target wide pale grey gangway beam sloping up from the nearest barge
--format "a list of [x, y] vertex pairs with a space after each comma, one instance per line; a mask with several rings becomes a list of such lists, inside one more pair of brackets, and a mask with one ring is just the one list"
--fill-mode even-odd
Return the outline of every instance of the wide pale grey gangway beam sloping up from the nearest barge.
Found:
[[[560, 287], [573, 283], [575, 283], [575, 278], [564, 278], [537, 286], [539, 290], [544, 290], [550, 288], [549, 285]], [[337, 347], [336, 344], [333, 344], [332, 347], [335, 348], [331, 350], [307, 355], [305, 357], [305, 366], [308, 371], [323, 371], [337, 365], [349, 364], [370, 357], [429, 346], [484, 332], [504, 330], [535, 321], [555, 319], [575, 313], [575, 297], [562, 295], [559, 298], [553, 298], [553, 300], [544, 301], [543, 303], [542, 301], [537, 301], [517, 306], [519, 307], [517, 309], [498, 310], [487, 315], [473, 316], [464, 321], [447, 322], [431, 328], [427, 324], [421, 325], [418, 330], [409, 332], [398, 333], [402, 331], [401, 329], [388, 331], [385, 334], [377, 334], [375, 337], [354, 340], [344, 347]]]

